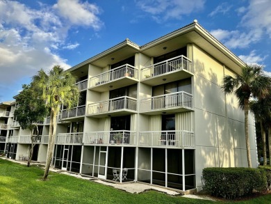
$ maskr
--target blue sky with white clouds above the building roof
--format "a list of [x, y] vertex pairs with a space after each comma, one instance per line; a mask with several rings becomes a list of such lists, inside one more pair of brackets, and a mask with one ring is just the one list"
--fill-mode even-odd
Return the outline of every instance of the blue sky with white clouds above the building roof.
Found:
[[144, 45], [194, 19], [271, 76], [270, 0], [0, 0], [0, 102], [40, 68], [70, 68], [126, 38]]

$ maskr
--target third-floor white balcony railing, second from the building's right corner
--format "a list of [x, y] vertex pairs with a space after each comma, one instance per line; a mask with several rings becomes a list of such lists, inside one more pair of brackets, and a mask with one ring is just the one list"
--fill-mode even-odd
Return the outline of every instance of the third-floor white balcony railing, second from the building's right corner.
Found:
[[129, 96], [115, 97], [103, 102], [97, 102], [88, 105], [88, 114], [107, 113], [110, 111], [118, 111], [129, 109], [136, 111], [136, 98]]

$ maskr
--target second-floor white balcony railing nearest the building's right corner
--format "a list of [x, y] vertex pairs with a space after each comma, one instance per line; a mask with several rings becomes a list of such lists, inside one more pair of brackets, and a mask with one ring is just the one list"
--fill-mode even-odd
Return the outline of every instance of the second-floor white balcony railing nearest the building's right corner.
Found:
[[170, 130], [140, 132], [139, 146], [194, 148], [194, 132]]

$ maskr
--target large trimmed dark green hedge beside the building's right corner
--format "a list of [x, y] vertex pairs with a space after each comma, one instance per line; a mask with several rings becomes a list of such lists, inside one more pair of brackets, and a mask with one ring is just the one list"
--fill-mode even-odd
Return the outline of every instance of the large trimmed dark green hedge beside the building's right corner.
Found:
[[204, 168], [202, 174], [206, 191], [217, 197], [233, 199], [266, 187], [261, 168]]

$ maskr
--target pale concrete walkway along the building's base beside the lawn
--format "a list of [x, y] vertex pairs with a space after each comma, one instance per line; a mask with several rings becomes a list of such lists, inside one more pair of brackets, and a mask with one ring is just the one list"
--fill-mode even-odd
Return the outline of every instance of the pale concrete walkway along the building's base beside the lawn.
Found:
[[[27, 164], [27, 162], [25, 162], [25, 161], [17, 161], [17, 160], [14, 160], [14, 159], [8, 159], [6, 157], [0, 157], [0, 158], [1, 159], [6, 159], [6, 160], [9, 160], [10, 162], [15, 162], [15, 163], [18, 163], [18, 164], [24, 164], [24, 165]], [[38, 166], [38, 167], [44, 169], [44, 164], [39, 163], [39, 162], [31, 162], [31, 166]], [[206, 200], [213, 201], [213, 199], [209, 198], [208, 196], [197, 196], [197, 195], [193, 195], [193, 194], [183, 195], [183, 194], [181, 194], [181, 193], [179, 193], [177, 191], [173, 191], [173, 190], [170, 190], [170, 189], [163, 189], [162, 187], [155, 187], [155, 186], [143, 184], [143, 183], [140, 183], [140, 182], [125, 182], [125, 183], [122, 183], [122, 184], [115, 183], [115, 182], [106, 182], [104, 180], [100, 180], [99, 178], [85, 177], [85, 176], [81, 176], [78, 173], [70, 173], [70, 172], [62, 171], [60, 169], [53, 168], [53, 167], [50, 167], [49, 171], [74, 176], [76, 178], [81, 178], [83, 180], [90, 180], [92, 182], [97, 182], [97, 183], [102, 184], [102, 185], [108, 185], [108, 186], [114, 187], [116, 189], [121, 189], [123, 191], [129, 192], [131, 194], [140, 194], [143, 191], [154, 190], [154, 191], [159, 191], [159, 192], [168, 194], [170, 196], [183, 196], [183, 197], [186, 197], [186, 198], [197, 198], [197, 199], [206, 199]]]

